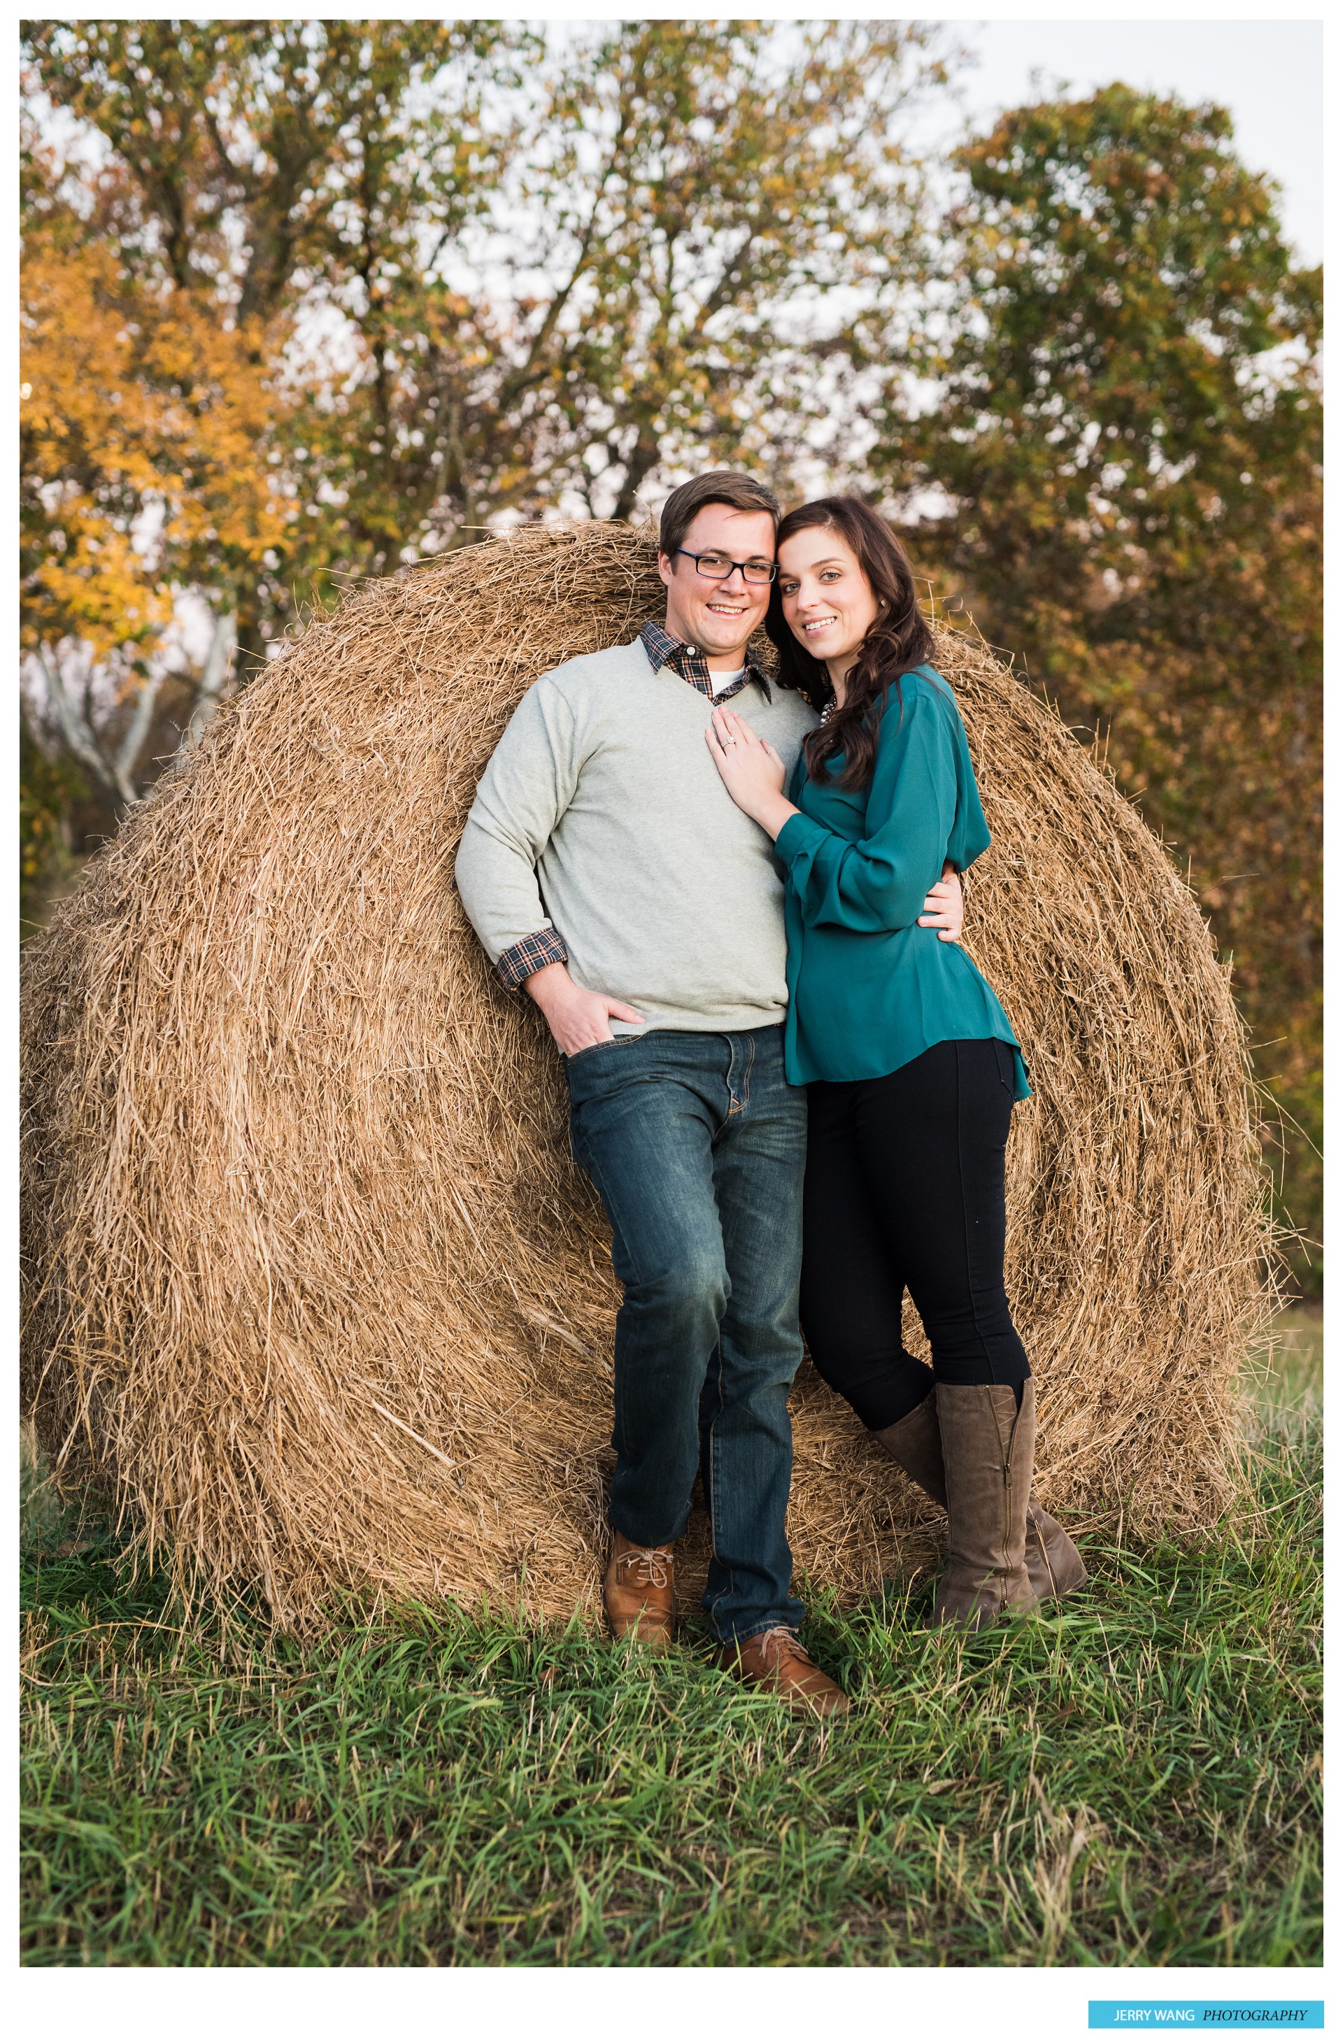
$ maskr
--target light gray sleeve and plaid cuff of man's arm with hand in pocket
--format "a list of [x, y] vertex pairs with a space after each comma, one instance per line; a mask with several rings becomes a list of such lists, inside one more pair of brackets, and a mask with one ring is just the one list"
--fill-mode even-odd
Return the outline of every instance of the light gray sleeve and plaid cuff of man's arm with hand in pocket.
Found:
[[[518, 702], [486, 765], [453, 869], [467, 918], [496, 965], [508, 953], [529, 953], [533, 936], [543, 936], [547, 951], [537, 953], [533, 969], [563, 951], [541, 900], [537, 859], [576, 787], [574, 710], [543, 675]], [[518, 983], [516, 973], [508, 981]]]

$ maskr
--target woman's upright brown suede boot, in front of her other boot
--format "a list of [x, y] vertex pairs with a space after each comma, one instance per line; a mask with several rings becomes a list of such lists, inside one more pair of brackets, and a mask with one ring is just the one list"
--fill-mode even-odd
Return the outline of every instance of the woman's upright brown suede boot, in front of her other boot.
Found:
[[947, 1479], [947, 1571], [933, 1622], [978, 1630], [1035, 1608], [1027, 1573], [1027, 1499], [1035, 1465], [1035, 1381], [959, 1387], [939, 1381], [937, 1424]]

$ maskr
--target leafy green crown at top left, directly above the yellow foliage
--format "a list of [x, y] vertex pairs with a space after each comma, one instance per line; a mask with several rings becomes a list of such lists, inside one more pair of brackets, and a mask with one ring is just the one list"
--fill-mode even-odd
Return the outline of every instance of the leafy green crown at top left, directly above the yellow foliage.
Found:
[[480, 102], [520, 41], [494, 22], [145, 20], [43, 22], [24, 49], [125, 169], [127, 253], [180, 288], [208, 279], [247, 322], [296, 271], [339, 269], [369, 200], [388, 231], [414, 208], [461, 220], [494, 163]]

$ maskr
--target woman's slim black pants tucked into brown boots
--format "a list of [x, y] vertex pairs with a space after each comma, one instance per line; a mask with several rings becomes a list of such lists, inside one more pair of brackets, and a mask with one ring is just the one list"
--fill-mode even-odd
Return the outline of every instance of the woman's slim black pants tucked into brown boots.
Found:
[[[1006, 1042], [943, 1040], [890, 1077], [806, 1089], [802, 1330], [869, 1430], [935, 1381], [1031, 1373], [1002, 1287], [1012, 1085]], [[931, 1369], [904, 1350], [906, 1289]]]

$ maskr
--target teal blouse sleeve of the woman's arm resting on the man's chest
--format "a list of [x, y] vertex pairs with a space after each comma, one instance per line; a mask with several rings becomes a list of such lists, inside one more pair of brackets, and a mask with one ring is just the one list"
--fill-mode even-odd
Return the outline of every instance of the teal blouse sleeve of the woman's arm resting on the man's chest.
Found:
[[910, 687], [882, 716], [865, 834], [849, 843], [808, 814], [790, 816], [778, 834], [806, 926], [910, 928], [941, 877], [955, 810], [953, 732], [937, 702]]

